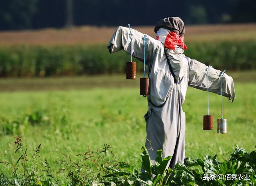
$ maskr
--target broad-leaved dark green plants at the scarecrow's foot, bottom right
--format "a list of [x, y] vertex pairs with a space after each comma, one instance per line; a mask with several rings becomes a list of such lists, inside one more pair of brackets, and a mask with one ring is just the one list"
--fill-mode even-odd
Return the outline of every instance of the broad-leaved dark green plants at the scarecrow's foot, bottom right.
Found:
[[[130, 164], [119, 164], [115, 168], [105, 168], [108, 183], [116, 185], [150, 185], [150, 186], [242, 186], [254, 185], [256, 151], [248, 154], [244, 149], [236, 146], [228, 161], [218, 162], [217, 155], [204, 156], [203, 159], [190, 160], [186, 158], [184, 164], [176, 164], [174, 169], [168, 168], [171, 157], [162, 159], [162, 150], [157, 151], [156, 163], [151, 164], [148, 152], [142, 147], [142, 172]], [[208, 179], [208, 175], [215, 175], [215, 179]], [[230, 175], [218, 179], [218, 175]], [[243, 175], [248, 179], [231, 179], [231, 175]], [[214, 178], [214, 177], [212, 177]], [[107, 184], [105, 184], [107, 185]]]

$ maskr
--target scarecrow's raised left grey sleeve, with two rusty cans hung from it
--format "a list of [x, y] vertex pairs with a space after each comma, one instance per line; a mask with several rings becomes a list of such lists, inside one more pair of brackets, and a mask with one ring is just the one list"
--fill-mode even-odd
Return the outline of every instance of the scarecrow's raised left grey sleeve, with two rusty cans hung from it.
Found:
[[[143, 53], [143, 37], [145, 34], [138, 32], [137, 30], [131, 29], [132, 36], [132, 56], [140, 61], [144, 59]], [[112, 38], [108, 43], [108, 50], [110, 54], [124, 50], [128, 54], [131, 54], [131, 40], [129, 37], [129, 28], [119, 26], [114, 32]], [[146, 36], [145, 39], [145, 62], [148, 63], [154, 57], [156, 49], [159, 46], [159, 41], [155, 40], [150, 36]]]

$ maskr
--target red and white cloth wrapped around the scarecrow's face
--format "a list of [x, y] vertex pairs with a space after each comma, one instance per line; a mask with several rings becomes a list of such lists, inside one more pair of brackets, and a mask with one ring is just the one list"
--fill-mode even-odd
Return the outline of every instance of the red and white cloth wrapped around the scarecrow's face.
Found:
[[156, 40], [159, 40], [166, 48], [171, 50], [175, 50], [176, 46], [186, 50], [187, 47], [184, 44], [183, 38], [183, 36], [164, 28], [160, 28], [156, 33]]

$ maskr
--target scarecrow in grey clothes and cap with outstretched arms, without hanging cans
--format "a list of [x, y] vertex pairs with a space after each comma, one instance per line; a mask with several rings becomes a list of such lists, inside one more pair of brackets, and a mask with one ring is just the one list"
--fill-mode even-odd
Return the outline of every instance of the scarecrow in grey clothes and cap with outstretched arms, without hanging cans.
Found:
[[[168, 166], [174, 168], [185, 158], [185, 113], [182, 110], [188, 86], [221, 94], [220, 70], [209, 68], [208, 81], [206, 68], [201, 62], [183, 54], [187, 49], [183, 42], [184, 23], [178, 17], [160, 20], [155, 28], [156, 38], [145, 38], [145, 62], [150, 78], [148, 112], [146, 120], [146, 143], [152, 164], [156, 151], [162, 149], [163, 158], [172, 156]], [[108, 44], [112, 54], [120, 50], [143, 61], [144, 34], [119, 26]], [[130, 45], [132, 44], [132, 52]], [[234, 82], [227, 74], [222, 76], [222, 95], [233, 102]], [[195, 98], [196, 99], [196, 98]]]

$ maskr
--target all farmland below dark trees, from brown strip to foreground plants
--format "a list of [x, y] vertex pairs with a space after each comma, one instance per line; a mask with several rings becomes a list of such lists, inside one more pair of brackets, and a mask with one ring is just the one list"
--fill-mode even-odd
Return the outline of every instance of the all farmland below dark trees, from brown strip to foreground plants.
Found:
[[[155, 36], [153, 27], [135, 29]], [[230, 103], [224, 98], [228, 133], [217, 134], [221, 98], [213, 93], [214, 131], [202, 130], [207, 93], [189, 87], [182, 106], [185, 150], [186, 157], [196, 160], [159, 174], [166, 167], [160, 158], [159, 165], [146, 170], [148, 177], [140, 173], [147, 157], [140, 157], [148, 109], [147, 99], [139, 96], [143, 66], [137, 63], [137, 80], [125, 79], [125, 61], [130, 56], [125, 52], [109, 55], [106, 48], [114, 30], [81, 27], [0, 32], [0, 186], [139, 186], [142, 182], [138, 180], [128, 181], [136, 176], [152, 180], [155, 173], [154, 185], [143, 185], [169, 185], [172, 179], [170, 185], [175, 186], [255, 185], [256, 24], [186, 27], [188, 50], [184, 54], [216, 69], [227, 69], [234, 79], [236, 99]], [[22, 136], [22, 146], [17, 136]], [[105, 154], [107, 145], [111, 148]], [[123, 161], [128, 162], [126, 167]], [[248, 173], [251, 179], [250, 183], [206, 182], [202, 176], [209, 171]], [[93, 184], [94, 180], [99, 183]]]

